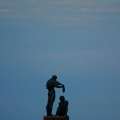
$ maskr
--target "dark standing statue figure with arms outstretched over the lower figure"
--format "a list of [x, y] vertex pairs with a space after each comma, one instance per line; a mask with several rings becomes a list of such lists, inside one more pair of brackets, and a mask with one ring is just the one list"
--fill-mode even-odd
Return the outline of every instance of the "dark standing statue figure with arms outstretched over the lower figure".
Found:
[[62, 83], [57, 81], [57, 76], [53, 75], [47, 81], [46, 88], [48, 89], [48, 102], [46, 106], [47, 116], [52, 116], [52, 108], [55, 101], [55, 88], [62, 88], [62, 91], [65, 92], [65, 87]]

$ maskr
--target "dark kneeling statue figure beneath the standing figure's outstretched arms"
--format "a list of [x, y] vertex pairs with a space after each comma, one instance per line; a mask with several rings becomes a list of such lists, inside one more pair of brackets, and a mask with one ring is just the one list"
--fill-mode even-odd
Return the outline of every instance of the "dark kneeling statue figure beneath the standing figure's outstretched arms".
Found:
[[67, 116], [68, 112], [68, 101], [65, 100], [64, 96], [60, 96], [59, 106], [56, 111], [56, 116]]

